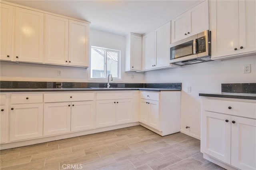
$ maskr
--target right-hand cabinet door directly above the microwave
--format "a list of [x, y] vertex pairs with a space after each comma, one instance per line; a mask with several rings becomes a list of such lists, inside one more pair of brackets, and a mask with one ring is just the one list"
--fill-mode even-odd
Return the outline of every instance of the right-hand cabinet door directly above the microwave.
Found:
[[191, 10], [188, 10], [188, 36], [209, 30], [209, 7], [208, 1], [198, 4]]

